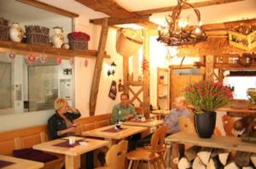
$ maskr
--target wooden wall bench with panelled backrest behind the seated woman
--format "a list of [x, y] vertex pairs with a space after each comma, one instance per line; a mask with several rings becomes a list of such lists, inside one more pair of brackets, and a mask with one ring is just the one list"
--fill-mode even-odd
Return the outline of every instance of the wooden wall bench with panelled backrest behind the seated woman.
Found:
[[[92, 130], [97, 127], [109, 125], [111, 114], [83, 117], [75, 120], [78, 125], [76, 134]], [[8, 132], [0, 132], [0, 155], [12, 155], [14, 149], [32, 148], [34, 144], [47, 142], [47, 125], [26, 127]], [[58, 155], [59, 159], [44, 163], [44, 168], [61, 168], [64, 164], [64, 156]]]

